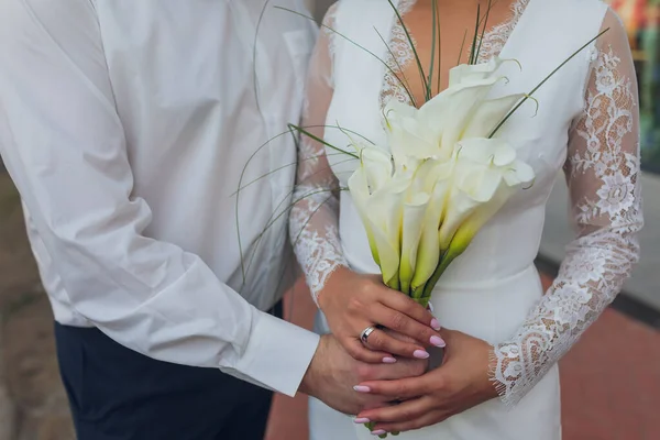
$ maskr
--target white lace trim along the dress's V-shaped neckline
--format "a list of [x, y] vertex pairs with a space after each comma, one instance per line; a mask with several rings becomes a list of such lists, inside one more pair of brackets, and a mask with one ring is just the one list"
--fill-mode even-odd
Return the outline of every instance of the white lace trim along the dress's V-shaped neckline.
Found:
[[[405, 16], [406, 13], [408, 13], [413, 9], [417, 1], [418, 0], [399, 0], [396, 3], [397, 10], [399, 10], [402, 19]], [[493, 56], [501, 55], [507, 48], [516, 28], [518, 28], [518, 24], [525, 16], [529, 4], [532, 1], [534, 0], [515, 0], [510, 6], [512, 16], [503, 21], [502, 23], [488, 29], [488, 31], [484, 34], [484, 38], [482, 40], [482, 53], [480, 54], [480, 59], [477, 63], [485, 63], [490, 61]], [[392, 10], [391, 13], [392, 20], [389, 25], [389, 38], [387, 43], [391, 50], [386, 51], [387, 54], [385, 56], [385, 63], [388, 66], [388, 68], [385, 68], [383, 74], [383, 80], [380, 92], [381, 107], [384, 107], [389, 99], [397, 99], [402, 102], [413, 105], [410, 97], [406, 92], [406, 89], [399, 84], [398, 79], [396, 79], [392, 70], [400, 75], [398, 68], [405, 68], [405, 66], [407, 66], [408, 63], [415, 59], [415, 55], [407, 40], [395, 40], [397, 38], [397, 35], [399, 38], [402, 36], [405, 38], [405, 31], [394, 10]], [[504, 36], [502, 37], [502, 35]], [[499, 42], [497, 42], [498, 36], [501, 36]], [[415, 38], [413, 36], [411, 40], [413, 44], [416, 44]], [[487, 51], [487, 56], [482, 56], [482, 54], [484, 54], [483, 51]], [[396, 58], [394, 57], [394, 54], [397, 55]], [[446, 88], [443, 88], [440, 92], [444, 90]], [[433, 97], [435, 96], [436, 95], [433, 95]]]

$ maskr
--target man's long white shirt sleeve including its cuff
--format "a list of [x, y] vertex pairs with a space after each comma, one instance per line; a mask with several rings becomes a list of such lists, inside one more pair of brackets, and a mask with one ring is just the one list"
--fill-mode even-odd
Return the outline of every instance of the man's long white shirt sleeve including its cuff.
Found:
[[91, 2], [1, 3], [0, 148], [78, 314], [151, 358], [296, 393], [318, 337], [142, 233], [151, 211], [132, 194]]

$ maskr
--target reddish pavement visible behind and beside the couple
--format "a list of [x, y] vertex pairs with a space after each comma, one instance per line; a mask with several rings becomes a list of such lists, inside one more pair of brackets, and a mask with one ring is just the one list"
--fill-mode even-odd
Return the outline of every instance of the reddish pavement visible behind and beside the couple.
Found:
[[[292, 298], [289, 316], [309, 328], [315, 306], [302, 286]], [[564, 440], [660, 439], [660, 332], [607, 310], [560, 366]], [[306, 398], [277, 396], [266, 440], [307, 438]]]

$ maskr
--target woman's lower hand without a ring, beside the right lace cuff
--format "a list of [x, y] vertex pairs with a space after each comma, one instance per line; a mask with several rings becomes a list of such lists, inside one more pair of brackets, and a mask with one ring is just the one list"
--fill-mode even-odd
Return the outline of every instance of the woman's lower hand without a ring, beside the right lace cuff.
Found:
[[465, 333], [442, 330], [447, 340], [442, 366], [421, 376], [397, 381], [365, 382], [356, 392], [387, 402], [403, 402], [358, 415], [356, 422], [376, 422], [373, 433], [409, 431], [439, 424], [497, 397], [488, 371], [493, 348]]

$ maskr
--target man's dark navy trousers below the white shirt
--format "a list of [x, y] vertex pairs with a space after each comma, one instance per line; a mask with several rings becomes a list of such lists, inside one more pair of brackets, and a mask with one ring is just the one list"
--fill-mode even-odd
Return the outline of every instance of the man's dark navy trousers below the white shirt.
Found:
[[97, 329], [55, 324], [78, 440], [262, 440], [272, 393], [155, 361]]

